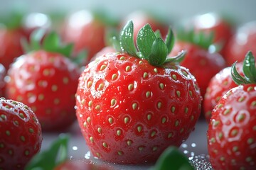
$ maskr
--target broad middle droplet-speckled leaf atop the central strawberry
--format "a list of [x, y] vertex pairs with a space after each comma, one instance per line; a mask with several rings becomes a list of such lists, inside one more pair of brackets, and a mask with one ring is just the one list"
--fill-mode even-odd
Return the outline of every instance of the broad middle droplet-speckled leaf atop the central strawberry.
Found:
[[149, 24], [146, 24], [139, 30], [137, 35], [137, 47], [142, 57], [147, 59], [151, 54], [151, 47], [156, 40], [156, 35]]

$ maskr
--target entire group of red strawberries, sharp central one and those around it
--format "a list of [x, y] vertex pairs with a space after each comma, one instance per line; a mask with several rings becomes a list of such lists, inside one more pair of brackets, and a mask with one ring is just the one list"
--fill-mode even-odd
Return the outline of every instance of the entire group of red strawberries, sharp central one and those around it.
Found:
[[171, 28], [142, 11], [83, 10], [52, 31], [46, 14], [12, 17], [0, 28], [0, 169], [23, 169], [42, 131], [75, 120], [95, 157], [155, 162], [200, 115], [215, 169], [255, 168], [256, 23], [206, 13]]

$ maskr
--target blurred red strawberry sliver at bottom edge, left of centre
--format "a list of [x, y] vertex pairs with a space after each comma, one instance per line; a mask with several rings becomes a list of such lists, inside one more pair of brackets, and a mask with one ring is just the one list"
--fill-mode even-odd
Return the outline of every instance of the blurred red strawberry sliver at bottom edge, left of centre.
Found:
[[110, 170], [107, 166], [95, 164], [87, 159], [68, 159], [67, 161], [59, 164], [54, 168], [54, 170]]

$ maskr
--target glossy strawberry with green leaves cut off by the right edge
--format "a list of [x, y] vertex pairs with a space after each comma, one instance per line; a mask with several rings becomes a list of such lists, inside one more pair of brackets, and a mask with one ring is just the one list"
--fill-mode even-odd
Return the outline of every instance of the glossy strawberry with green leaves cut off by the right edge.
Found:
[[242, 77], [232, 66], [236, 84], [213, 109], [208, 126], [208, 153], [214, 169], [256, 169], [256, 69], [252, 52], [245, 56]]

